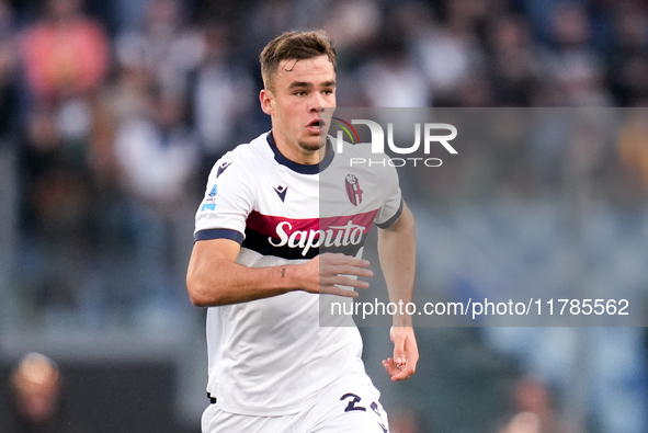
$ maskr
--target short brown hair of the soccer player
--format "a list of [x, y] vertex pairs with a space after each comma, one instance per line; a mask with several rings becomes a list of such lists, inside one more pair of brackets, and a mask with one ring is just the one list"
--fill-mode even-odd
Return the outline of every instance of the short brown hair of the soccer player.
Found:
[[338, 55], [336, 47], [323, 31], [285, 32], [272, 39], [259, 56], [263, 86], [274, 91], [274, 73], [282, 60], [305, 60], [328, 56], [333, 70], [337, 70]]

